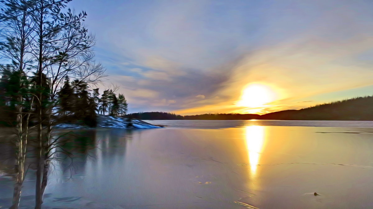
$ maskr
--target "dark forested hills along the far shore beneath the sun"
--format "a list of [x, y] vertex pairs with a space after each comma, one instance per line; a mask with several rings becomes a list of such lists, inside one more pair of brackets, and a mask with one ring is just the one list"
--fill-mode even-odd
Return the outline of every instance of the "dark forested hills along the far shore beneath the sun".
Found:
[[356, 97], [300, 110], [283, 110], [257, 114], [176, 115], [166, 112], [131, 113], [128, 117], [140, 120], [373, 120], [373, 97]]

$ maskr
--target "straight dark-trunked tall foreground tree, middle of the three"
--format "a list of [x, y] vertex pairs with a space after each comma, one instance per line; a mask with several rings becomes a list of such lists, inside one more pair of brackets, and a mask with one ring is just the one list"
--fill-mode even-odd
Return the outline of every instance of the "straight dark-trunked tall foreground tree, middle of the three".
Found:
[[[53, 39], [58, 37], [58, 33], [63, 27], [62, 18], [63, 14], [60, 13], [60, 10], [65, 7], [65, 3], [62, 1], [55, 3], [55, 1], [50, 0], [35, 0], [33, 8], [33, 22], [35, 23], [35, 33], [37, 35], [36, 43], [34, 44], [35, 49], [34, 55], [37, 60], [37, 78], [35, 82], [39, 93], [37, 94], [37, 118], [38, 118], [38, 165], [36, 172], [36, 194], [35, 194], [35, 208], [41, 208], [42, 199], [43, 199], [43, 185], [42, 185], [42, 176], [41, 170], [43, 166], [43, 172], [47, 173], [47, 159], [45, 158], [46, 147], [48, 146], [47, 140], [42, 138], [42, 97], [43, 97], [43, 70], [48, 66], [48, 57], [50, 57], [50, 51], [55, 51], [58, 49], [57, 42]], [[44, 154], [43, 154], [44, 153]], [[44, 159], [43, 159], [44, 157]], [[43, 174], [44, 179], [44, 174]]]

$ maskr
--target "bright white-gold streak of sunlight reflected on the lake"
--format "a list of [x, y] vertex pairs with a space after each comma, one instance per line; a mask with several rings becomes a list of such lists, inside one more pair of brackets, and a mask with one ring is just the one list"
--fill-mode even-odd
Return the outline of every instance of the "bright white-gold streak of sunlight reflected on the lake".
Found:
[[260, 152], [264, 143], [264, 126], [246, 126], [246, 146], [248, 150], [251, 174], [256, 173]]

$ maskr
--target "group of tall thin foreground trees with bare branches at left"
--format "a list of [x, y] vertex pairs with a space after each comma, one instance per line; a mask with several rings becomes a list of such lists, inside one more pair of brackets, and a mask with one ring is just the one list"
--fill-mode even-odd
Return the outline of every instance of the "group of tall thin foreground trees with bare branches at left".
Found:
[[[52, 130], [58, 113], [54, 109], [61, 105], [57, 103], [57, 98], [60, 98], [59, 92], [66, 84], [64, 78], [69, 76], [88, 84], [96, 84], [104, 77], [103, 67], [95, 64], [93, 59], [94, 36], [82, 24], [87, 14], [81, 12], [76, 15], [74, 11], [66, 9], [69, 1], [71, 0], [0, 1], [0, 59], [4, 64], [1, 69], [17, 71], [19, 89], [28, 89], [34, 95], [25, 98], [18, 96], [16, 102], [9, 100], [13, 98], [9, 96], [0, 95], [0, 99], [3, 99], [4, 104], [9, 103], [17, 109], [14, 112], [18, 114], [19, 133], [23, 131], [22, 111], [29, 111], [26, 113], [27, 119], [29, 113], [34, 111], [37, 119], [36, 208], [41, 207], [46, 188], [49, 158], [53, 154], [51, 150], [58, 146]], [[26, 70], [35, 73], [32, 77], [34, 83], [29, 88], [23, 88], [21, 84]], [[65, 87], [64, 90], [69, 89], [68, 86]], [[86, 105], [94, 110], [90, 110], [90, 114], [95, 113], [92, 102], [94, 99], [89, 96], [88, 90], [81, 91], [81, 98], [84, 98], [81, 102], [87, 102]], [[35, 105], [22, 106], [31, 101], [35, 101]], [[46, 126], [45, 132], [43, 125]], [[22, 138], [22, 134], [19, 137]]]

